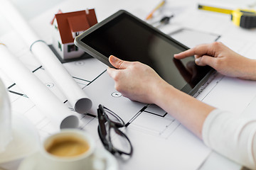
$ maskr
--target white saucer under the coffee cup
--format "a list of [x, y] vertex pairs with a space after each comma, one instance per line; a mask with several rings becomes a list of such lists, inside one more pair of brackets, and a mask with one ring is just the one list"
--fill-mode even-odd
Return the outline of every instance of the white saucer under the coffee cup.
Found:
[[[118, 169], [117, 159], [112, 154], [110, 154], [110, 152], [107, 152], [105, 149], [96, 149], [95, 154], [100, 155], [100, 157], [105, 157], [107, 159], [106, 170]], [[23, 162], [21, 162], [18, 170], [35, 170], [36, 166], [38, 165], [39, 159], [41, 159], [40, 152], [32, 154], [30, 157], [27, 157], [23, 160]]]

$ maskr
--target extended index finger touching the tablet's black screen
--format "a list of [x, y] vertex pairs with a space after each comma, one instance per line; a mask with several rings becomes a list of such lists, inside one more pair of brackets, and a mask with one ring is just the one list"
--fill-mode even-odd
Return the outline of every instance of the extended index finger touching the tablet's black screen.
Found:
[[174, 55], [174, 57], [176, 59], [183, 59], [189, 56], [193, 56], [193, 55], [212, 55], [213, 52], [212, 51], [212, 45], [211, 44], [204, 44], [204, 45], [198, 45], [196, 47], [193, 47], [189, 50], [186, 50], [184, 52], [180, 52], [176, 55]]

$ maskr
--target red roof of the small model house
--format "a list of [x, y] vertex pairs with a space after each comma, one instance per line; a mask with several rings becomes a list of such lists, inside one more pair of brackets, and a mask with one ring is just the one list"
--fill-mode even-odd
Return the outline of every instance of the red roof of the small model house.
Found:
[[63, 44], [74, 42], [72, 32], [87, 30], [97, 23], [94, 9], [70, 13], [57, 13], [55, 14], [55, 19], [58, 23], [58, 30]]

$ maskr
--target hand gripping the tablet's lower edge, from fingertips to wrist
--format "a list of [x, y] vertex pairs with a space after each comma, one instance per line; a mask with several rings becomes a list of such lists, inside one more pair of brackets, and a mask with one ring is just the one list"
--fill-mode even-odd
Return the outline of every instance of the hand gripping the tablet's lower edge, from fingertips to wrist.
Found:
[[154, 69], [141, 62], [127, 62], [111, 55], [110, 63], [117, 68], [107, 69], [115, 81], [115, 89], [132, 101], [155, 103], [161, 84], [170, 86]]

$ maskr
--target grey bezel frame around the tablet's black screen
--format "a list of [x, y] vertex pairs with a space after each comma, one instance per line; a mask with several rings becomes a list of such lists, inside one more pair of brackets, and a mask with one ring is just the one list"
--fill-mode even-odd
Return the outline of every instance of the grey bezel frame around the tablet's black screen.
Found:
[[[92, 57], [95, 57], [97, 60], [100, 60], [101, 62], [103, 62], [104, 64], [106, 64], [109, 67], [113, 67], [112, 64], [110, 64], [109, 62], [109, 56], [105, 56], [102, 55], [100, 52], [98, 52], [97, 50], [93, 49], [92, 47], [90, 47], [89, 45], [85, 44], [85, 42], [82, 42], [82, 38], [85, 38], [87, 35], [90, 35], [90, 33], [96, 31], [97, 29], [101, 28], [102, 26], [105, 26], [105, 24], [109, 23], [110, 21], [112, 21], [114, 18], [117, 18], [118, 16], [122, 15], [123, 13], [127, 14], [128, 16], [132, 16], [132, 18], [134, 18], [135, 20], [144, 23], [146, 26], [148, 26], [150, 29], [156, 31], [156, 33], [159, 33], [159, 35], [161, 35], [162, 37], [171, 40], [172, 42], [174, 42], [176, 45], [178, 45], [179, 47], [188, 50], [189, 48], [186, 47], [186, 45], [183, 45], [181, 42], [178, 42], [177, 40], [175, 40], [174, 38], [171, 38], [169, 35], [166, 35], [165, 33], [161, 32], [159, 29], [154, 28], [153, 26], [151, 26], [149, 23], [146, 23], [145, 21], [142, 21], [141, 19], [137, 18], [136, 16], [132, 15], [132, 13], [129, 13], [127, 11], [124, 10], [120, 10], [117, 11], [116, 13], [114, 13], [112, 16], [109, 16], [108, 18], [106, 18], [104, 21], [101, 21], [100, 23], [97, 23], [95, 26], [92, 26], [91, 28], [89, 28], [88, 30], [86, 30], [84, 33], [78, 35], [75, 38], [75, 45], [77, 45], [78, 47], [80, 47], [82, 50], [84, 50], [85, 52], [87, 52], [89, 55], [91, 55]], [[210, 75], [214, 72], [214, 69], [211, 69], [210, 72], [208, 72], [208, 74], [206, 74], [205, 77], [203, 77], [203, 79], [201, 79], [201, 81], [198, 82], [198, 84], [193, 87], [193, 89], [188, 90], [189, 88], [189, 84], [186, 84], [185, 86], [183, 86], [182, 89], [179, 89], [183, 92], [185, 92], [186, 94], [189, 94], [191, 96], [193, 96], [194, 94], [196, 94], [196, 92], [198, 91], [198, 89], [201, 88], [201, 86], [203, 86], [203, 84], [206, 83], [206, 81], [208, 80], [208, 78], [210, 77]], [[190, 89], [190, 88], [189, 88]]]

